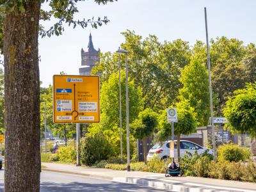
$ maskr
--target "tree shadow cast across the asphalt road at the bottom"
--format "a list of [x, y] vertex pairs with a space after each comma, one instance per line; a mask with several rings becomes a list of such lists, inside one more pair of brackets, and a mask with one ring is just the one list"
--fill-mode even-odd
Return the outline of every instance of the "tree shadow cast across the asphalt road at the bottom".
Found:
[[[40, 191], [161, 191], [161, 189], [150, 189], [134, 184], [122, 184], [113, 182], [111, 184], [87, 184], [83, 182], [54, 183], [41, 182]], [[163, 190], [164, 191], [164, 190]]]

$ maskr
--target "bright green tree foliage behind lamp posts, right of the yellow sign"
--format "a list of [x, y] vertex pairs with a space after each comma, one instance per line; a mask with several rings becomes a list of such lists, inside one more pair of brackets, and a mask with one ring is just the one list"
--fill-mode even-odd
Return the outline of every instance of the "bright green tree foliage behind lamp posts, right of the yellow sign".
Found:
[[[122, 95], [122, 145], [126, 151], [126, 90], [125, 71], [121, 71]], [[129, 123], [133, 122], [141, 111], [141, 90], [131, 78], [128, 79]], [[88, 127], [88, 135], [103, 133], [114, 147], [115, 154], [120, 153], [120, 119], [119, 119], [119, 74], [113, 72], [100, 88], [100, 123]], [[131, 138], [132, 142], [132, 138]], [[131, 148], [132, 150], [132, 148]]]

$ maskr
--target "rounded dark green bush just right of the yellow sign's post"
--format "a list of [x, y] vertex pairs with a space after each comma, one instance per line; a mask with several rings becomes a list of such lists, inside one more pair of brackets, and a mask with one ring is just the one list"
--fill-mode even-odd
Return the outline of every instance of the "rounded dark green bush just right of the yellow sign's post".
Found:
[[89, 166], [108, 159], [112, 152], [111, 144], [102, 133], [87, 136], [81, 143], [81, 161]]

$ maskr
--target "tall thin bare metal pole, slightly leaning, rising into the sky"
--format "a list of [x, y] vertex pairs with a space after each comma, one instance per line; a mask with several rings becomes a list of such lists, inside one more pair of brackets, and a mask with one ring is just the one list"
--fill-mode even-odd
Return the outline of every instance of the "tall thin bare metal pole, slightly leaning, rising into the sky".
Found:
[[208, 65], [208, 74], [209, 74], [210, 103], [211, 103], [212, 146], [213, 146], [213, 150], [214, 150], [214, 161], [216, 162], [216, 144], [215, 144], [214, 122], [213, 122], [213, 120], [214, 120], [213, 119], [213, 106], [212, 106], [211, 65], [210, 65], [210, 55], [209, 55], [209, 39], [208, 39], [206, 7], [204, 8], [204, 15], [205, 15], [205, 31], [206, 31], [206, 44], [207, 44], [207, 65]]

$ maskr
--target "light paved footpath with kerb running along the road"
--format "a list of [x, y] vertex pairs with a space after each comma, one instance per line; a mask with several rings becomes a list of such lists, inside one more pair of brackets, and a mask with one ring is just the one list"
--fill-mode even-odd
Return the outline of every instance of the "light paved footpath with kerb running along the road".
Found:
[[233, 180], [208, 179], [202, 177], [164, 177], [164, 174], [149, 172], [127, 172], [104, 168], [88, 168], [73, 164], [42, 163], [43, 171], [70, 173], [99, 179], [140, 184], [150, 188], [168, 189], [171, 191], [211, 192], [211, 191], [256, 191], [256, 183]]

